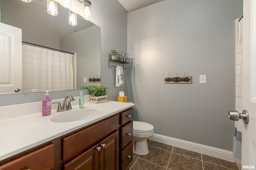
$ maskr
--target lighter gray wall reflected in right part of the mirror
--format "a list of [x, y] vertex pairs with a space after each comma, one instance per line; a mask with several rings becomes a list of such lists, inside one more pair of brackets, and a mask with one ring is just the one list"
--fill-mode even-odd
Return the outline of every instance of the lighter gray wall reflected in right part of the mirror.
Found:
[[[84, 38], [80, 38], [84, 37]], [[76, 52], [77, 88], [89, 84], [89, 77], [100, 77], [100, 27], [95, 25], [60, 37], [60, 48]], [[84, 82], [86, 77], [86, 82]]]

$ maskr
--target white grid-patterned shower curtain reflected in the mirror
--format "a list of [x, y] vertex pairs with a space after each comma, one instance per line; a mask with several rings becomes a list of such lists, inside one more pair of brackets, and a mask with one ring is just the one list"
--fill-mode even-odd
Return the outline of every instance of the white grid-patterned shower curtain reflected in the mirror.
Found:
[[73, 89], [72, 54], [22, 45], [22, 91]]

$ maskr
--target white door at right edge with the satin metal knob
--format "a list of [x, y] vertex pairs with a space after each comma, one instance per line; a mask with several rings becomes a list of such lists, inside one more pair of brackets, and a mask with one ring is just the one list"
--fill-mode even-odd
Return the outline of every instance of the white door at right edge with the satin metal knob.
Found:
[[243, 4], [243, 109], [249, 123], [242, 127], [242, 169], [256, 169], [256, 0]]

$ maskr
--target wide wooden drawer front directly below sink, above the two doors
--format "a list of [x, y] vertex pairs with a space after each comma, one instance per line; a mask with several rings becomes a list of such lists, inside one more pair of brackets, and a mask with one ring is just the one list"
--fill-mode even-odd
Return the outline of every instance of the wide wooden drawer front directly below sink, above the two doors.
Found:
[[118, 129], [118, 115], [63, 139], [63, 160], [74, 156]]

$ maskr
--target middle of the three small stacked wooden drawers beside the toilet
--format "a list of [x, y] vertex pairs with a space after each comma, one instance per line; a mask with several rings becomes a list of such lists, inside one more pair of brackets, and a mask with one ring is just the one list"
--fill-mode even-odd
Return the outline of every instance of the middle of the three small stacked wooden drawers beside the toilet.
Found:
[[131, 121], [127, 125], [121, 128], [122, 129], [122, 149], [132, 141], [133, 138], [133, 122]]

